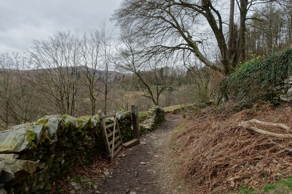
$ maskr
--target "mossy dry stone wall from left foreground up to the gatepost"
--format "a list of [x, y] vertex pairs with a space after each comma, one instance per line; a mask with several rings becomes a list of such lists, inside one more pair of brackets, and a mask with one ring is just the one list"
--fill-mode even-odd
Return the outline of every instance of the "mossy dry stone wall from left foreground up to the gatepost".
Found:
[[[131, 111], [118, 111], [123, 142], [132, 137]], [[112, 120], [106, 120], [110, 124]], [[0, 132], [0, 194], [43, 193], [105, 149], [98, 116], [45, 116]]]

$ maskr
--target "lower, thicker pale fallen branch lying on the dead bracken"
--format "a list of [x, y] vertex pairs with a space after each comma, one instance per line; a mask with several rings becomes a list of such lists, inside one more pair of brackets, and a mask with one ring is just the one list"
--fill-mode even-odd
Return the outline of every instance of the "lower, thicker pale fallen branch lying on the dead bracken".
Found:
[[272, 138], [283, 138], [283, 139], [292, 139], [292, 134], [277, 134], [277, 133], [272, 133], [269, 131], [265, 131], [262, 129], [258, 129], [256, 127], [252, 127], [248, 124], [249, 121], [242, 121], [239, 123], [239, 126], [243, 127], [244, 129], [250, 131], [253, 134], [262, 134], [266, 135]]

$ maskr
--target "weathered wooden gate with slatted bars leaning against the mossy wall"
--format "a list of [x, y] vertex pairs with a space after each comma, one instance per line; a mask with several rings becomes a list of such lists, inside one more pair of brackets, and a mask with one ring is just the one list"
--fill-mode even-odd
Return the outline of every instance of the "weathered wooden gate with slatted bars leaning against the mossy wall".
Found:
[[[102, 136], [105, 141], [105, 148], [107, 150], [107, 156], [110, 157], [110, 161], [114, 161], [114, 156], [124, 148], [123, 142], [120, 134], [120, 129], [117, 121], [117, 116], [115, 111], [110, 115], [104, 115], [101, 111], [98, 111], [98, 117], [100, 121], [100, 126], [102, 129]], [[114, 122], [106, 125], [104, 119], [114, 117]], [[113, 127], [113, 130], [110, 129]], [[109, 139], [111, 141], [109, 141]]]

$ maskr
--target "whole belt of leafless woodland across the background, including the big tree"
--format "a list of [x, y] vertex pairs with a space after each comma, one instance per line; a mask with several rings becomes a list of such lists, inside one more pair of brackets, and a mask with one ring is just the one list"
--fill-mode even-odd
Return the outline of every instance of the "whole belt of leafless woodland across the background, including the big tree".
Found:
[[291, 45], [291, 1], [122, 1], [90, 33], [55, 31], [0, 54], [0, 128], [137, 104], [202, 103], [242, 64]]

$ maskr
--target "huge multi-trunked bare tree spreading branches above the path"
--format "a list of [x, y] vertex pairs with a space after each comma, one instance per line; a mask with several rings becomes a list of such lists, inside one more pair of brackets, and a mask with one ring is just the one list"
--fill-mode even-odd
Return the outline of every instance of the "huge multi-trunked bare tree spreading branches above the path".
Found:
[[[285, 0], [273, 1], [291, 6]], [[111, 19], [120, 29], [131, 29], [149, 53], [191, 53], [206, 66], [227, 75], [245, 59], [248, 13], [268, 2], [230, 0], [230, 6], [226, 6], [226, 2], [211, 0], [123, 0]], [[153, 41], [155, 45], [150, 45]], [[219, 63], [205, 54], [210, 49], [218, 50]]]

